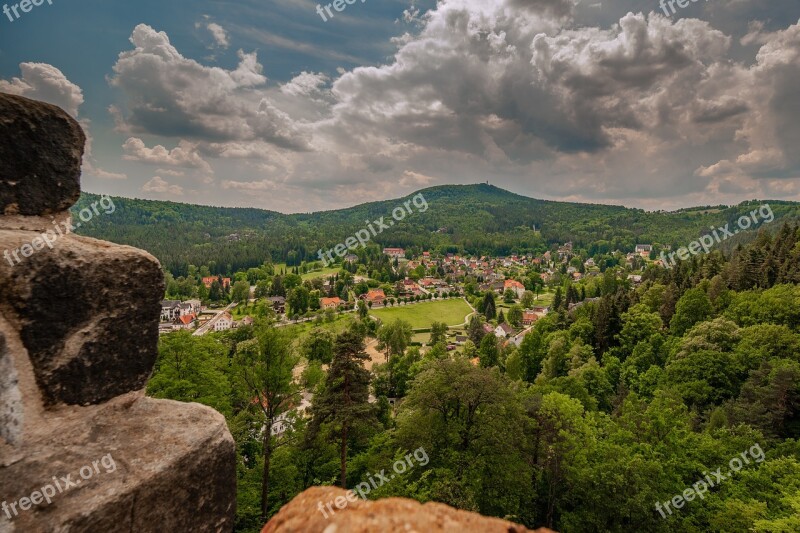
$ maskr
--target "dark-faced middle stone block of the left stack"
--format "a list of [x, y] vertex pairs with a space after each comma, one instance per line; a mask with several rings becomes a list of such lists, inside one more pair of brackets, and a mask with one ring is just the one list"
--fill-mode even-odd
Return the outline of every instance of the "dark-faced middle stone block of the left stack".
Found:
[[[0, 250], [39, 236], [0, 230]], [[18, 328], [46, 403], [96, 404], [143, 388], [164, 295], [155, 258], [72, 234], [17, 256], [0, 260], [0, 313]]]

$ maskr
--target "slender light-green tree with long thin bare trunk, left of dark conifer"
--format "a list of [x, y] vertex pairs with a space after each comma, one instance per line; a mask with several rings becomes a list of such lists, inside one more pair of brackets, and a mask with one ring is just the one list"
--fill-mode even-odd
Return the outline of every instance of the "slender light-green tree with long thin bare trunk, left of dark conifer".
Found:
[[255, 329], [255, 338], [239, 343], [233, 359], [234, 374], [242, 390], [252, 398], [262, 415], [264, 471], [261, 484], [261, 518], [269, 513], [270, 460], [276, 448], [286, 443], [272, 435], [276, 419], [297, 402], [299, 391], [293, 371], [297, 357], [292, 354], [291, 340], [270, 326]]

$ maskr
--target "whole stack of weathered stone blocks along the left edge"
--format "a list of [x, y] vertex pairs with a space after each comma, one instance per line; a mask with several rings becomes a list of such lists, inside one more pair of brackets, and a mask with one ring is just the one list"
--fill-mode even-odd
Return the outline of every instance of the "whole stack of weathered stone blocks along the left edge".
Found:
[[0, 533], [231, 531], [225, 419], [142, 391], [160, 265], [71, 233], [83, 143], [58, 108], [0, 94]]

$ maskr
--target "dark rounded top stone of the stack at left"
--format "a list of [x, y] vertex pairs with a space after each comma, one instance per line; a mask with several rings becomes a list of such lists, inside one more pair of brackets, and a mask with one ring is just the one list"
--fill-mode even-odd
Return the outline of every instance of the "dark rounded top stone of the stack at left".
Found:
[[86, 136], [60, 108], [0, 93], [0, 215], [43, 215], [80, 196]]

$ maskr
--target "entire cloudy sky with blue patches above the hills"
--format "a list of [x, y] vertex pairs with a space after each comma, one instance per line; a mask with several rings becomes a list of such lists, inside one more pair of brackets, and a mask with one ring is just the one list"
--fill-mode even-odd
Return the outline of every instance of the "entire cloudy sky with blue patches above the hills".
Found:
[[800, 200], [800, 2], [674, 7], [354, 0], [325, 21], [312, 0], [52, 0], [0, 15], [0, 91], [80, 120], [84, 188], [128, 197]]

